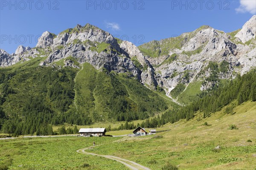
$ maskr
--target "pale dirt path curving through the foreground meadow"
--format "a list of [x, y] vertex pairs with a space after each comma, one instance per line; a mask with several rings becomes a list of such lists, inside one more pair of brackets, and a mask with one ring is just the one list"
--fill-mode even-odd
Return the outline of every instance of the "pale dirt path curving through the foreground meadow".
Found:
[[107, 158], [107, 159], [112, 159], [112, 160], [115, 160], [115, 161], [119, 161], [120, 163], [124, 164], [126, 167], [130, 168], [131, 170], [150, 170], [148, 167], [144, 167], [140, 164], [137, 164], [134, 161], [129, 161], [127, 159], [122, 159], [122, 158], [119, 158], [119, 157], [116, 157], [116, 156], [99, 155], [99, 154], [96, 154], [96, 153], [89, 153], [89, 152], [84, 151], [84, 150], [91, 149], [91, 148], [93, 148], [93, 147], [86, 147], [86, 148], [83, 148], [83, 149], [79, 149], [76, 152], [87, 154], [87, 155], [93, 155], [93, 156], [101, 156], [101, 157], [104, 157], [104, 158]]

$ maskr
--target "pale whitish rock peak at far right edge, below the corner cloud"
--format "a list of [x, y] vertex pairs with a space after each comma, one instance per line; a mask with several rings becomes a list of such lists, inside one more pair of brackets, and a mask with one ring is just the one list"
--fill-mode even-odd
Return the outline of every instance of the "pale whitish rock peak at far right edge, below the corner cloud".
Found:
[[253, 15], [253, 17], [244, 24], [243, 28], [235, 37], [238, 37], [243, 43], [256, 37], [256, 15]]

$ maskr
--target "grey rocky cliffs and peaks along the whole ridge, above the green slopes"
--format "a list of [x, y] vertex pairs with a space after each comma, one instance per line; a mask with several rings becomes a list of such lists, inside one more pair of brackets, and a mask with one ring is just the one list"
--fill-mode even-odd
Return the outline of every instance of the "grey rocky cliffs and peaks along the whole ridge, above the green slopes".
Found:
[[[255, 38], [253, 16], [236, 34], [236, 40], [247, 42]], [[254, 24], [254, 26], [253, 26]], [[164, 90], [177, 84], [188, 85], [211, 76], [210, 62], [227, 61], [227, 70], [218, 72], [220, 79], [232, 79], [256, 67], [256, 47], [238, 43], [231, 35], [209, 26], [202, 26], [179, 37], [151, 41], [137, 48], [128, 41], [117, 43], [108, 32], [86, 24], [69, 28], [58, 35], [44, 32], [36, 48], [19, 46], [15, 54], [1, 50], [0, 66], [9, 66], [31, 57], [47, 57], [41, 66], [55, 66], [55, 62], [73, 57], [79, 63], [89, 62], [96, 69], [127, 73], [145, 86]], [[143, 53], [142, 51], [147, 51]], [[63, 60], [64, 66], [79, 68], [73, 60]], [[226, 64], [227, 64], [226, 62]], [[216, 82], [207, 82], [201, 90], [212, 88]]]

